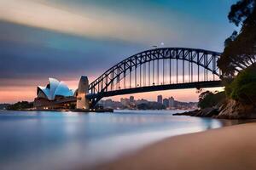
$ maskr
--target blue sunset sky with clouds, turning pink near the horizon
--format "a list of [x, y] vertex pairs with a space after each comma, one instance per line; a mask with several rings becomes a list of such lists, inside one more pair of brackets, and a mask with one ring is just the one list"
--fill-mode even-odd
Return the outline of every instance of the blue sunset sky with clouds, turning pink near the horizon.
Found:
[[[0, 103], [32, 101], [37, 86], [45, 86], [49, 77], [75, 89], [80, 76], [92, 82], [119, 61], [154, 45], [222, 52], [224, 39], [236, 29], [227, 19], [233, 3], [236, 0], [0, 0]], [[157, 94], [198, 99], [195, 89], [135, 97], [155, 100]]]

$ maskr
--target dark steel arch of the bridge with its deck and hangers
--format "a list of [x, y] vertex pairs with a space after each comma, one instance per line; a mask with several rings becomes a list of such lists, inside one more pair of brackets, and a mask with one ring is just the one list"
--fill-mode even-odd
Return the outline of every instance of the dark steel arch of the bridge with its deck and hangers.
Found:
[[[103, 97], [119, 94], [132, 94], [177, 88], [219, 87], [220, 81], [215, 79], [215, 77], [219, 79], [221, 75], [221, 72], [217, 66], [217, 60], [219, 59], [219, 56], [220, 53], [218, 52], [197, 48], [154, 48], [143, 51], [142, 53], [132, 55], [131, 57], [122, 60], [117, 65], [113, 65], [113, 67], [109, 68], [108, 71], [105, 71], [102, 76], [98, 77], [94, 82], [91, 82], [89, 85], [89, 94], [87, 94], [86, 97], [90, 99], [91, 105], [94, 106]], [[163, 60], [163, 83], [161, 84], [159, 83], [161, 65], [160, 60]], [[182, 60], [182, 65], [178, 64], [178, 60]], [[176, 75], [172, 75], [172, 61], [176, 62]], [[188, 63], [188, 65], [185, 65], [185, 61]], [[166, 81], [165, 83], [166, 63], [170, 64], [170, 79], [169, 82]], [[182, 71], [178, 69], [179, 66], [182, 67]], [[203, 80], [200, 80], [200, 68], [203, 68]], [[189, 82], [184, 81], [185, 69], [189, 71]], [[134, 78], [132, 78], [132, 72], [134, 72]], [[139, 72], [139, 75], [137, 75], [137, 72]], [[182, 82], [178, 82], [178, 73], [180, 72], [182, 72], [183, 75]], [[196, 80], [195, 72], [197, 74]], [[208, 80], [208, 72], [213, 75], [213, 81]], [[130, 84], [127, 86], [125, 79], [128, 77], [128, 75], [130, 77]], [[176, 77], [175, 83], [172, 83], [171, 81], [173, 76]], [[137, 77], [139, 77], [139, 81], [137, 81]], [[131, 88], [132, 80], [135, 84], [135, 87], [133, 88]], [[148, 84], [146, 86], [145, 80], [149, 81], [149, 83], [146, 83]], [[120, 88], [119, 86], [121, 81], [124, 82], [123, 88]]]

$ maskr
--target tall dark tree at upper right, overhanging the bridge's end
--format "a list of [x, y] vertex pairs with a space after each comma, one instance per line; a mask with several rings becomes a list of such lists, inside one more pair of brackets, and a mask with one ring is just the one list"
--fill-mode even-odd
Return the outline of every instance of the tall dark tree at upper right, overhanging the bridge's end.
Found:
[[224, 77], [256, 65], [256, 0], [241, 0], [231, 6], [228, 18], [231, 23], [241, 26], [225, 42], [224, 53], [218, 60], [218, 67]]

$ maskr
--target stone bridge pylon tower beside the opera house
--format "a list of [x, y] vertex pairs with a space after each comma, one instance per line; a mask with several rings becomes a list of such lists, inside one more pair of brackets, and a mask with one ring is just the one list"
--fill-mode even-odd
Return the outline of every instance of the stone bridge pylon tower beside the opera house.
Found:
[[86, 94], [89, 93], [88, 77], [82, 76], [79, 81], [79, 89], [77, 96], [77, 109], [90, 109], [90, 100], [86, 99]]

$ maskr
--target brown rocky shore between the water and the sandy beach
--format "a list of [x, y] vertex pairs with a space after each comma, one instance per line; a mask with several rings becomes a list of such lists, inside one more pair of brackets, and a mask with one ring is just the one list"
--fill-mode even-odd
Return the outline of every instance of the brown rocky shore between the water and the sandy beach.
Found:
[[224, 101], [224, 104], [201, 110], [173, 114], [174, 116], [202, 116], [219, 119], [256, 119], [256, 107], [245, 105], [234, 99]]

